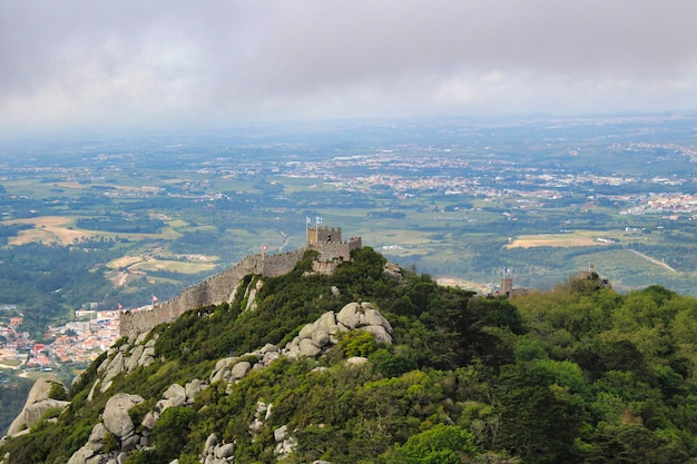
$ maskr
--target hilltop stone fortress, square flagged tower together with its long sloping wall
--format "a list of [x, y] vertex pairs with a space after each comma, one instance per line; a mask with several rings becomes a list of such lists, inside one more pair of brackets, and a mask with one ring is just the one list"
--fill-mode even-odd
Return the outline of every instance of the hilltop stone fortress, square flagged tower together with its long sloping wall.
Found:
[[342, 240], [341, 227], [308, 226], [305, 248], [275, 255], [247, 256], [232, 268], [184, 289], [181, 294], [168, 302], [145, 309], [121, 313], [120, 335], [121, 337], [129, 337], [149, 332], [158, 324], [177, 319], [189, 309], [230, 303], [237, 286], [246, 275], [257, 274], [263, 277], [275, 277], [289, 273], [306, 250], [318, 253], [317, 259], [313, 263], [314, 272], [331, 274], [338, 263], [351, 259], [351, 250], [362, 247], [361, 237]]

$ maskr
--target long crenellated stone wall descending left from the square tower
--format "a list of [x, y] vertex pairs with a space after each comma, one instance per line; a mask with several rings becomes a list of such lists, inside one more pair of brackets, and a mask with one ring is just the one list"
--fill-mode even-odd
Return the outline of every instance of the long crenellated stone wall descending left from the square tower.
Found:
[[304, 251], [304, 249], [297, 249], [277, 255], [247, 256], [234, 267], [184, 289], [181, 294], [168, 302], [145, 309], [121, 313], [120, 335], [126, 337], [148, 332], [156, 325], [176, 320], [189, 309], [229, 303], [235, 289], [246, 275], [261, 274], [265, 277], [275, 277], [287, 274], [301, 260]]

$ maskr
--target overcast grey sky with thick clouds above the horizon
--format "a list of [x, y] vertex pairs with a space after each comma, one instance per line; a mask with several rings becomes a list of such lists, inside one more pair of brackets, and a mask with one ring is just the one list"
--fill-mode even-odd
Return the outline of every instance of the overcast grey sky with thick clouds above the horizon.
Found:
[[695, 0], [2, 0], [0, 127], [697, 109]]

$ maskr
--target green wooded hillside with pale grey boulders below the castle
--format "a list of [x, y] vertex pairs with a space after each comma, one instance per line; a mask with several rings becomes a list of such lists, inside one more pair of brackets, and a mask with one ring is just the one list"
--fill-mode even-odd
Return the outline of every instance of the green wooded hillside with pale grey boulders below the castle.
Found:
[[0, 463], [695, 462], [695, 298], [593, 274], [488, 298], [315, 256], [43, 385]]

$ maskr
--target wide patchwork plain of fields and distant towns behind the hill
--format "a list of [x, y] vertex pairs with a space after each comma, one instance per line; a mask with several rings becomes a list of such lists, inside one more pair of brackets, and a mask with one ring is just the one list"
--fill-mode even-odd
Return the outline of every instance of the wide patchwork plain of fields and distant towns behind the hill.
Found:
[[592, 265], [620, 292], [697, 294], [696, 125], [439, 120], [4, 141], [0, 303], [60, 315], [167, 299], [263, 246], [303, 247], [307, 219], [480, 292], [504, 269], [514, 286], [547, 288]]

